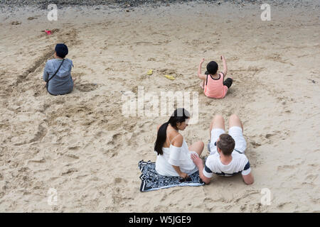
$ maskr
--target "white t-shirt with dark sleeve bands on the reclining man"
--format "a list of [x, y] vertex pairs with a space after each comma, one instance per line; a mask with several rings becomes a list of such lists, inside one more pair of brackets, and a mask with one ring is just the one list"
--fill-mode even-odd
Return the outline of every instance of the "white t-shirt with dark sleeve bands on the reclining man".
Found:
[[244, 154], [233, 151], [231, 154], [233, 160], [228, 165], [223, 165], [218, 152], [209, 155], [206, 165], [203, 169], [203, 175], [210, 178], [213, 174], [230, 177], [241, 172], [242, 175], [248, 175], [251, 172], [250, 163]]

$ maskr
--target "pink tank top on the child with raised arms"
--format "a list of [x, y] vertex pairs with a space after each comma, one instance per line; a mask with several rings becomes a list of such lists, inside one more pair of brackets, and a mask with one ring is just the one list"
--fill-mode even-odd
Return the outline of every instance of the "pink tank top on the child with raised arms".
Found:
[[223, 73], [219, 73], [219, 79], [213, 79], [210, 74], [207, 75], [204, 94], [209, 98], [222, 99], [228, 92], [228, 87], [223, 85]]

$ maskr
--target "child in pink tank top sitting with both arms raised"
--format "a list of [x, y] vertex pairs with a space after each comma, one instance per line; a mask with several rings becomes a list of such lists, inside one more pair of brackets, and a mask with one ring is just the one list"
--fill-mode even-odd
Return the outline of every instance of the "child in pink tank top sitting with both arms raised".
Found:
[[233, 79], [225, 79], [228, 67], [227, 62], [225, 62], [225, 57], [221, 56], [223, 60], [223, 72], [218, 73], [218, 64], [217, 62], [211, 61], [207, 65], [207, 71], [205, 74], [201, 74], [201, 67], [204, 62], [204, 58], [201, 60], [198, 67], [198, 77], [203, 79], [200, 86], [203, 89], [203, 92], [209, 98], [222, 99], [228, 92], [228, 89], [233, 84]]

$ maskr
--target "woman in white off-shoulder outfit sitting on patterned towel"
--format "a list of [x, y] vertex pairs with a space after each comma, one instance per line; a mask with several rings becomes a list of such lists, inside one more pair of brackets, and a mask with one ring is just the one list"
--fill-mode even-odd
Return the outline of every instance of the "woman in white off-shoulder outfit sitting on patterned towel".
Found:
[[188, 111], [178, 108], [168, 122], [158, 126], [154, 150], [157, 153], [156, 172], [159, 175], [186, 178], [198, 171], [198, 167], [191, 160], [191, 154], [195, 153], [200, 157], [203, 142], [198, 141], [188, 147], [186, 140], [178, 133], [188, 126], [189, 118]]

